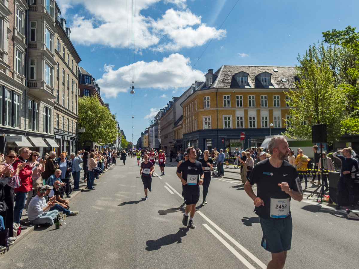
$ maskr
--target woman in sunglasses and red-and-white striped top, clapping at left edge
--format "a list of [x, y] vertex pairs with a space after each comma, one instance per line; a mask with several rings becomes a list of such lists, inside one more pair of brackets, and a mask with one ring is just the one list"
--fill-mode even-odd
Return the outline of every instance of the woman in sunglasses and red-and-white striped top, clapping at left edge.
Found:
[[4, 186], [4, 200], [8, 206], [8, 210], [2, 213], [1, 216], [4, 218], [5, 229], [9, 228], [9, 237], [13, 236], [13, 225], [14, 225], [14, 188], [18, 188], [21, 185], [21, 180], [19, 178], [19, 172], [26, 165], [26, 162], [19, 164], [14, 170], [13, 163], [17, 155], [15, 151], [9, 150], [6, 153], [5, 161], [1, 163], [6, 167], [9, 167], [11, 174], [15, 174], [11, 177], [10, 182]]

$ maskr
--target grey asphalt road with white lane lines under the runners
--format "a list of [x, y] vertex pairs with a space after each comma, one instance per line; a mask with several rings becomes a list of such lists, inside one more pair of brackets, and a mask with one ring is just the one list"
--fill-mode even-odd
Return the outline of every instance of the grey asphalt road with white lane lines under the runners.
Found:
[[[200, 206], [201, 193], [192, 230], [182, 225], [176, 167], [154, 176], [143, 200], [136, 160], [117, 164], [96, 180], [96, 190], [71, 199], [77, 216], [59, 230], [34, 230], [0, 257], [0, 268], [266, 268], [271, 255], [260, 246], [259, 219], [241, 181], [212, 178], [208, 204]], [[291, 211], [285, 268], [358, 268], [358, 221], [307, 199], [292, 201]]]

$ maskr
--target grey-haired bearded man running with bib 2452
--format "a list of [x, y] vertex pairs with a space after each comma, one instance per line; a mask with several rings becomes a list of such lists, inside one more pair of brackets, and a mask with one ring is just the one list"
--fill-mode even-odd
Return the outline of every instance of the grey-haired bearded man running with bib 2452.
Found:
[[[263, 237], [262, 247], [270, 251], [272, 260], [267, 268], [283, 268], [287, 250], [292, 244], [292, 216], [290, 200], [301, 201], [303, 190], [298, 172], [289, 162], [288, 142], [284, 136], [271, 138], [268, 143], [269, 159], [259, 162], [252, 170], [244, 190], [255, 204], [255, 213], [259, 216]], [[257, 195], [253, 185], [257, 183]]]

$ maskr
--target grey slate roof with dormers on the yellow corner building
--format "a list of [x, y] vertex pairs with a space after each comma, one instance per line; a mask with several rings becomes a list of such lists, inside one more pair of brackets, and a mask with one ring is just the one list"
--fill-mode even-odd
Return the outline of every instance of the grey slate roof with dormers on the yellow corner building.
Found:
[[[277, 69], [275, 72], [273, 69]], [[209, 88], [244, 88], [239, 86], [234, 75], [239, 72], [248, 73], [248, 84], [250, 88], [268, 88], [262, 85], [256, 77], [263, 72], [271, 74], [271, 86], [269, 88], [288, 89], [295, 88], [295, 67], [294, 66], [254, 66], [254, 65], [223, 65], [214, 72], [218, 76], [210, 87], [201, 87], [201, 89]], [[287, 82], [281, 81], [285, 79]], [[248, 88], [248, 87], [246, 87]]]

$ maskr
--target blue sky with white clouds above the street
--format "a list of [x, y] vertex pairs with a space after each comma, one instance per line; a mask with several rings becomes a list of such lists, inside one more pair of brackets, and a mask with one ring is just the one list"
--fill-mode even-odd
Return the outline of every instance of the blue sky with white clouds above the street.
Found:
[[134, 143], [153, 115], [195, 80], [204, 80], [208, 69], [294, 66], [298, 54], [322, 40], [322, 32], [359, 26], [357, 0], [236, 2], [134, 1], [132, 129], [132, 1], [57, 1], [82, 59], [79, 65], [101, 86], [128, 141], [133, 130]]

